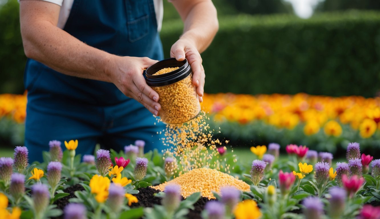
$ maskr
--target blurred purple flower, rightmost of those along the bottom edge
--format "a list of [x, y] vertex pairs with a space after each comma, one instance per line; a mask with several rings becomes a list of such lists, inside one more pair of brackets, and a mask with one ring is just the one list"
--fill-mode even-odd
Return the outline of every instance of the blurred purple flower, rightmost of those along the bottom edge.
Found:
[[331, 195], [329, 213], [332, 218], [340, 218], [344, 212], [344, 205], [346, 202], [346, 190], [341, 187], [332, 187], [329, 191]]

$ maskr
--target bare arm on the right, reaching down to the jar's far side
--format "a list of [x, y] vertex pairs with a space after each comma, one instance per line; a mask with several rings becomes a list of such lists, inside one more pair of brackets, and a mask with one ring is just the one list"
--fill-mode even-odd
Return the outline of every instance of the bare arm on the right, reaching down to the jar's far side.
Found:
[[173, 0], [172, 3], [184, 21], [184, 33], [171, 47], [170, 56], [179, 61], [188, 60], [193, 84], [202, 102], [205, 74], [200, 53], [206, 50], [218, 31], [217, 11], [211, 0]]

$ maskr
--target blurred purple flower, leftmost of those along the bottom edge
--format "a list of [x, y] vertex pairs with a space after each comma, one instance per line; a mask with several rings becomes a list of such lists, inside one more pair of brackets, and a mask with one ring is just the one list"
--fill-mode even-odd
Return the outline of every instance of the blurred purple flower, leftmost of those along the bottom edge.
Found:
[[32, 186], [32, 198], [34, 210], [37, 215], [43, 213], [49, 204], [49, 189], [45, 184], [34, 184]]

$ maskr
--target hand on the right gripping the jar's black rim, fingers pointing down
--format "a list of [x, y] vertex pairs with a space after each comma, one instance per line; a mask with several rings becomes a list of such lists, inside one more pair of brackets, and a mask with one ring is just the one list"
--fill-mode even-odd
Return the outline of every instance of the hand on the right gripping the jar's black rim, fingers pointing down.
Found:
[[171, 47], [170, 56], [175, 57], [178, 61], [187, 59], [193, 71], [193, 84], [196, 87], [199, 102], [203, 102], [203, 87], [206, 75], [204, 74], [201, 55], [196, 47], [190, 40], [179, 39]]

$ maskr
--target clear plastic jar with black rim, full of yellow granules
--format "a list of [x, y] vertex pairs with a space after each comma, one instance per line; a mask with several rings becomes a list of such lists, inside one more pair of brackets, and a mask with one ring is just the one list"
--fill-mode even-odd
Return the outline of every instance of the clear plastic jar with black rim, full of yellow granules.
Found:
[[[163, 68], [179, 67], [174, 71], [154, 75]], [[201, 111], [198, 95], [192, 83], [193, 74], [187, 60], [165, 59], [146, 69], [146, 83], [158, 95], [160, 117], [165, 124], [180, 124], [198, 116]]]

